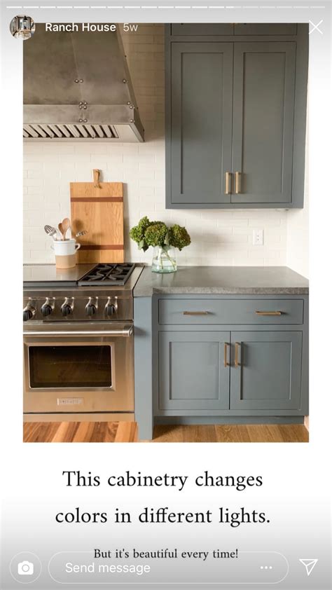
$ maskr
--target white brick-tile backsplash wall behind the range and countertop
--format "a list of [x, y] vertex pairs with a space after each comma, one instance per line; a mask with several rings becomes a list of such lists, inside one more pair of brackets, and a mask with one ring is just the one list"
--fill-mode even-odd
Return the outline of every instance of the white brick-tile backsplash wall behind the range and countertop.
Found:
[[[123, 39], [141, 120], [144, 144], [25, 143], [25, 262], [52, 262], [50, 239], [43, 231], [70, 217], [69, 182], [90, 181], [92, 168], [105, 181], [125, 183], [125, 258], [151, 263], [130, 243], [129, 228], [144, 215], [185, 225], [192, 244], [179, 253], [179, 263], [237, 266], [279, 266], [287, 263], [287, 221], [282, 210], [165, 210], [164, 39], [162, 25], [140, 25], [139, 34]], [[296, 232], [305, 214], [294, 214], [288, 224], [289, 263], [300, 260]], [[252, 245], [253, 228], [263, 228], [264, 245]], [[296, 254], [296, 244], [298, 253]], [[296, 270], [298, 270], [296, 268]]]

